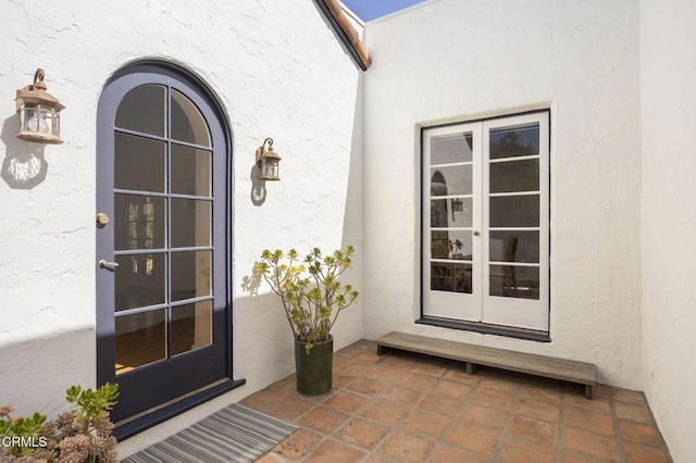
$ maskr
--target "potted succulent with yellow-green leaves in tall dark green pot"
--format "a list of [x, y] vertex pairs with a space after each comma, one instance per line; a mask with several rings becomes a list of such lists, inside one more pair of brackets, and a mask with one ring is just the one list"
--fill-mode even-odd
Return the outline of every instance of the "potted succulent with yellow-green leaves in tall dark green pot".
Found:
[[331, 391], [334, 339], [331, 335], [340, 312], [358, 298], [351, 285], [338, 277], [350, 267], [352, 246], [324, 255], [319, 248], [304, 256], [295, 249], [268, 249], [253, 265], [257, 280], [263, 278], [278, 295], [295, 338], [297, 390], [304, 396]]

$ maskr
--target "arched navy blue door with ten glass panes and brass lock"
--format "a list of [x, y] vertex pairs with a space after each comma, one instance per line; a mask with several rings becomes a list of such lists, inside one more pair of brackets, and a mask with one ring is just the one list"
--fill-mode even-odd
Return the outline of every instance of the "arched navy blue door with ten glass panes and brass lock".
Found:
[[231, 383], [231, 143], [204, 87], [153, 63], [109, 82], [97, 141], [97, 374], [119, 424]]

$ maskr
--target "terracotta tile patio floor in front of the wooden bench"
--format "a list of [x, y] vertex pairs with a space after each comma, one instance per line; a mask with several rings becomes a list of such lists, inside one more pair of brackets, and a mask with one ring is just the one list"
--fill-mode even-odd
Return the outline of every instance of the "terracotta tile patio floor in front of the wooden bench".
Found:
[[[643, 392], [579, 385], [387, 351], [334, 355], [334, 387], [297, 393], [295, 375], [243, 403], [301, 426], [261, 458], [289, 462], [670, 462]], [[617, 426], [614, 428], [614, 426]]]

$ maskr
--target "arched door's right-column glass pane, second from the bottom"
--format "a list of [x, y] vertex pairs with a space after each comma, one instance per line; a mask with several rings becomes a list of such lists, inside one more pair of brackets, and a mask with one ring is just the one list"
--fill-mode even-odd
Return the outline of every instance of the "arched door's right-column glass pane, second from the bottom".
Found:
[[211, 295], [211, 251], [172, 252], [172, 301]]

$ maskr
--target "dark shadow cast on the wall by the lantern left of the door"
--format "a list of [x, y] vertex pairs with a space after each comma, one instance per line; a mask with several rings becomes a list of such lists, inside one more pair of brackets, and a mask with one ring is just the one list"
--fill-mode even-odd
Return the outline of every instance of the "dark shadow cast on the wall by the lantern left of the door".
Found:
[[32, 143], [15, 137], [20, 133], [20, 115], [4, 120], [0, 139], [5, 146], [0, 176], [12, 189], [28, 190], [46, 179], [48, 162], [44, 158], [44, 145]]

